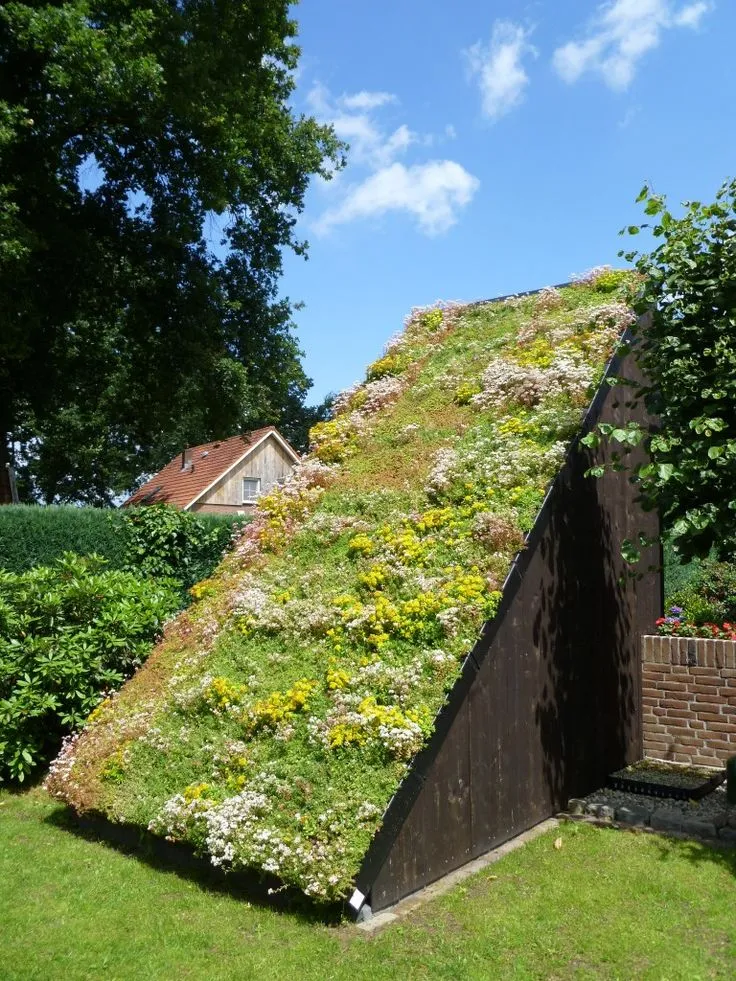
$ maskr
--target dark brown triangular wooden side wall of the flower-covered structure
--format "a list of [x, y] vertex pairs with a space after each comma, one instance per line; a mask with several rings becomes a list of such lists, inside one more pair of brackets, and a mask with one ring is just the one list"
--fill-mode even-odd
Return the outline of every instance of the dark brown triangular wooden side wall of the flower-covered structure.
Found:
[[[624, 369], [635, 375], [628, 361]], [[587, 426], [632, 418], [630, 398], [604, 384]], [[374, 911], [641, 756], [640, 635], [661, 613], [661, 573], [622, 580], [620, 547], [639, 532], [656, 535], [657, 518], [641, 512], [625, 473], [586, 478], [592, 462], [578, 448], [568, 457], [498, 616], [389, 807], [357, 880]], [[650, 566], [659, 566], [658, 549], [640, 570]]]

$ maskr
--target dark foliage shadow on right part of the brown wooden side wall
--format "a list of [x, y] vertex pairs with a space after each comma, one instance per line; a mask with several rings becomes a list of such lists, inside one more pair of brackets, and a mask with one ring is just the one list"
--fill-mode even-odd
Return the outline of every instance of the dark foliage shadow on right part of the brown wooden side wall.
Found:
[[[573, 453], [540, 542], [533, 639], [546, 678], [535, 720], [558, 809], [641, 757], [640, 635], [659, 615], [656, 573], [637, 579], [621, 556], [623, 539], [656, 534], [657, 518], [639, 510], [625, 473], [586, 478], [592, 462]], [[655, 562], [650, 548], [641, 569]]]

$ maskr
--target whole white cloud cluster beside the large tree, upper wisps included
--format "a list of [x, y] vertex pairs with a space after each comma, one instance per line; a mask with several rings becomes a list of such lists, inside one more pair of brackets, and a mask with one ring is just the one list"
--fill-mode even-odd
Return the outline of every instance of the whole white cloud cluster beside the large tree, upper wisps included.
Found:
[[[433, 137], [415, 133], [406, 123], [396, 127], [382, 123], [379, 111], [396, 104], [396, 96], [357, 92], [334, 97], [318, 83], [307, 99], [312, 110], [350, 144], [347, 172], [332, 184], [323, 184], [336, 203], [314, 223], [318, 234], [387, 212], [410, 215], [426, 235], [438, 235], [455, 224], [479, 181], [452, 160], [399, 162], [410, 150], [415, 156], [427, 153]], [[454, 128], [447, 127], [444, 135], [454, 138]]]

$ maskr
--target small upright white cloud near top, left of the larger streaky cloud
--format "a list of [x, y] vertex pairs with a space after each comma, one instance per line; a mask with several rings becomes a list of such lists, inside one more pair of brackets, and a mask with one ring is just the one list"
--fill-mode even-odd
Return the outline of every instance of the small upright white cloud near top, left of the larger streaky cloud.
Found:
[[489, 44], [478, 41], [464, 52], [470, 75], [480, 87], [485, 116], [495, 122], [522, 102], [529, 84], [522, 59], [536, 54], [529, 31], [507, 20], [496, 21]]

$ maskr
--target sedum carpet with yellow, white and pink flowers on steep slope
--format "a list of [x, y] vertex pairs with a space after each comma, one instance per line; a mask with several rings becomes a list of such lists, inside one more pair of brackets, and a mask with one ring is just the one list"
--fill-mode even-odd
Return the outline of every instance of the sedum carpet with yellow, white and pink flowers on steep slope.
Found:
[[47, 786], [344, 897], [632, 322], [627, 274], [415, 310]]

